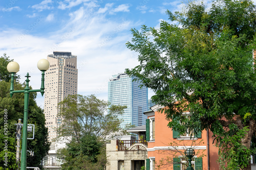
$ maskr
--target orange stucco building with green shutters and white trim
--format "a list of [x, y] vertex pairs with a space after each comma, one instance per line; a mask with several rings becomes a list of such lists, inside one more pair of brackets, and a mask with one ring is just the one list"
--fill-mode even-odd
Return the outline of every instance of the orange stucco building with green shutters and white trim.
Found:
[[[201, 134], [198, 134], [192, 139], [190, 138], [190, 134], [177, 135], [175, 131], [167, 126], [169, 121], [165, 119], [164, 113], [157, 111], [159, 108], [161, 108], [161, 106], [157, 104], [151, 107], [152, 110], [144, 112], [148, 118], [146, 120], [146, 136], [149, 136], [149, 139], [147, 139], [148, 159], [146, 169], [156, 169], [163, 159], [169, 160], [169, 163], [164, 161], [161, 169], [183, 170], [186, 167], [180, 163], [174, 164], [173, 162], [176, 161], [176, 159], [173, 159], [173, 157], [179, 157], [178, 161], [182, 162], [183, 156], [181, 152], [184, 152], [190, 147], [193, 148], [196, 153], [194, 156], [195, 160], [192, 162], [195, 169], [219, 169], [216, 162], [218, 159], [218, 148], [212, 144], [212, 133], [207, 133], [207, 130], [203, 130]], [[184, 113], [184, 116], [186, 115], [189, 115], [189, 113]], [[202, 155], [205, 156], [198, 158]]]

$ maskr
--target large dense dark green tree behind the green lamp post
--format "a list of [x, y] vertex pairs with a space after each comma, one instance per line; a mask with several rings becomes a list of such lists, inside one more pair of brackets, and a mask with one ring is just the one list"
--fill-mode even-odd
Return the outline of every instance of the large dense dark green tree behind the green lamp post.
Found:
[[[14, 83], [15, 90], [23, 90], [25, 84], [19, 82]], [[16, 93], [10, 98], [9, 95], [10, 82], [4, 80], [0, 81], [0, 134], [4, 134], [4, 109], [7, 110], [8, 118], [8, 133], [9, 138], [15, 138], [16, 123], [18, 119], [22, 119], [24, 113], [24, 94]], [[32, 89], [30, 87], [30, 89]], [[28, 124], [35, 124], [35, 139], [27, 140], [28, 148], [34, 151], [34, 156], [27, 156], [27, 166], [39, 167], [41, 166], [41, 160], [50, 150], [50, 143], [48, 142], [48, 130], [45, 127], [45, 117], [43, 110], [36, 104], [37, 93], [30, 93], [29, 96], [29, 107], [28, 107]], [[21, 130], [22, 133], [22, 130]], [[28, 136], [29, 137], [29, 136]], [[21, 148], [22, 148], [22, 141]], [[15, 144], [16, 145], [16, 144]], [[29, 149], [28, 149], [29, 150]], [[16, 148], [15, 148], [16, 152]], [[0, 159], [2, 159], [0, 155]], [[14, 155], [14, 159], [16, 154]]]

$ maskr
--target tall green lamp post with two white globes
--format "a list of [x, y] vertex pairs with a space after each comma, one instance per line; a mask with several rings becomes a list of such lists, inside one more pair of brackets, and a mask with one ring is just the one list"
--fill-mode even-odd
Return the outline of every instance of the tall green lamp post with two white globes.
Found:
[[41, 59], [37, 63], [37, 68], [42, 71], [42, 78], [41, 78], [41, 88], [37, 90], [30, 90], [28, 82], [30, 81], [28, 78], [30, 77], [29, 74], [26, 81], [26, 87], [24, 90], [14, 90], [14, 74], [19, 71], [19, 64], [15, 61], [9, 62], [7, 65], [7, 70], [12, 74], [11, 75], [11, 87], [10, 87], [10, 96], [12, 97], [14, 93], [24, 93], [24, 118], [23, 118], [23, 137], [22, 137], [22, 152], [21, 152], [21, 164], [20, 170], [27, 169], [27, 126], [28, 126], [28, 100], [29, 100], [29, 93], [30, 92], [40, 92], [41, 95], [44, 95], [45, 89], [45, 71], [48, 70], [50, 67], [50, 63], [46, 59]]

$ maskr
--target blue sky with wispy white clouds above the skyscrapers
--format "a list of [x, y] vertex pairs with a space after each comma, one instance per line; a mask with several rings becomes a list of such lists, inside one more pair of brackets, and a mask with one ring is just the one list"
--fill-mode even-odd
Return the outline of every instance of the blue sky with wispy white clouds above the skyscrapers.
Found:
[[[4, 0], [0, 55], [18, 62], [20, 81], [29, 72], [30, 85], [38, 89], [37, 61], [52, 51], [71, 51], [78, 61], [78, 94], [107, 100], [111, 75], [138, 65], [138, 54], [125, 46], [132, 39], [130, 29], [158, 28], [161, 20], [168, 21], [166, 9], [180, 10], [180, 1]], [[40, 94], [36, 100], [44, 105]]]

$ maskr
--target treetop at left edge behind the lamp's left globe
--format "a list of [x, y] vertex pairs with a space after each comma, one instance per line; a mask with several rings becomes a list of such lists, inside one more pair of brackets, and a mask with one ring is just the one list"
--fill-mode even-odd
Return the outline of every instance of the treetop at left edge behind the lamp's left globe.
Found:
[[[4, 80], [8, 82], [11, 80], [11, 74], [7, 70], [7, 64], [9, 62], [13, 61], [9, 59], [9, 56], [6, 56], [6, 53], [4, 53], [4, 56], [0, 57], [0, 80]], [[19, 75], [14, 74], [14, 79], [20, 79]]]

